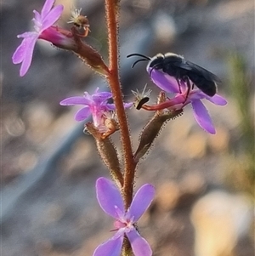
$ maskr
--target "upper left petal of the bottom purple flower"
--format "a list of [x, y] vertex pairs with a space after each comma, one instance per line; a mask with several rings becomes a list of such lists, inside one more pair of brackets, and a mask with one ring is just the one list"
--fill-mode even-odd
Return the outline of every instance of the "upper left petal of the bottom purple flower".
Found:
[[100, 207], [114, 219], [120, 218], [120, 213], [124, 214], [124, 203], [122, 195], [116, 185], [103, 177], [96, 181], [96, 192]]

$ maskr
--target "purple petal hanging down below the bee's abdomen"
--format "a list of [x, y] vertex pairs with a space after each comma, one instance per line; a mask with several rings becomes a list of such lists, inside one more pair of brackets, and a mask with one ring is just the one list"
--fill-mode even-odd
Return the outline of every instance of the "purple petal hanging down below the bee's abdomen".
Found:
[[215, 134], [215, 128], [212, 119], [208, 114], [207, 108], [201, 103], [201, 100], [191, 102], [196, 122], [210, 134]]

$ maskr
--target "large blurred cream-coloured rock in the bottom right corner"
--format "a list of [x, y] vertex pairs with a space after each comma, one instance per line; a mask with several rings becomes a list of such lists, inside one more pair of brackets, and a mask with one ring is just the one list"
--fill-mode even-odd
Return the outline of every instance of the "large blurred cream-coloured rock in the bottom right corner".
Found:
[[234, 256], [235, 246], [252, 223], [252, 208], [244, 194], [213, 191], [195, 203], [195, 256]]

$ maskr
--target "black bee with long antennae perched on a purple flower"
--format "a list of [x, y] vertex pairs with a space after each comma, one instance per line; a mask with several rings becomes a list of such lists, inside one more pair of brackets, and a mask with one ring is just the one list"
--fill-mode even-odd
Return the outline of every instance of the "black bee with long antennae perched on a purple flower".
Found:
[[174, 77], [178, 82], [180, 88], [180, 81], [186, 82], [188, 90], [190, 91], [190, 81], [193, 82], [192, 88], [195, 85], [200, 88], [204, 94], [213, 96], [217, 92], [217, 82], [221, 82], [220, 79], [212, 74], [210, 71], [202, 68], [199, 65], [195, 65], [189, 60], [185, 60], [183, 56], [178, 54], [156, 54], [156, 56], [150, 58], [143, 54], [129, 54], [127, 58], [132, 56], [139, 56], [143, 59], [136, 60], [132, 67], [140, 61], [149, 61], [148, 67], [151, 72], [161, 70], [167, 73], [169, 76]]

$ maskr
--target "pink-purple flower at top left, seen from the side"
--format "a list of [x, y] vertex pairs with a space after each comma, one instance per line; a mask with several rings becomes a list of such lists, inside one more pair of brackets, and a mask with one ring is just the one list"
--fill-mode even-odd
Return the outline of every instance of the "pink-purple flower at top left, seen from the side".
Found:
[[46, 0], [42, 7], [42, 12], [39, 14], [36, 10], [33, 11], [35, 17], [32, 19], [34, 22], [35, 31], [27, 31], [17, 37], [24, 38], [20, 46], [13, 54], [14, 64], [21, 64], [20, 77], [23, 77], [31, 65], [31, 59], [37, 39], [40, 38], [42, 32], [52, 26], [59, 20], [60, 14], [64, 7], [57, 5], [53, 8], [54, 0]]

